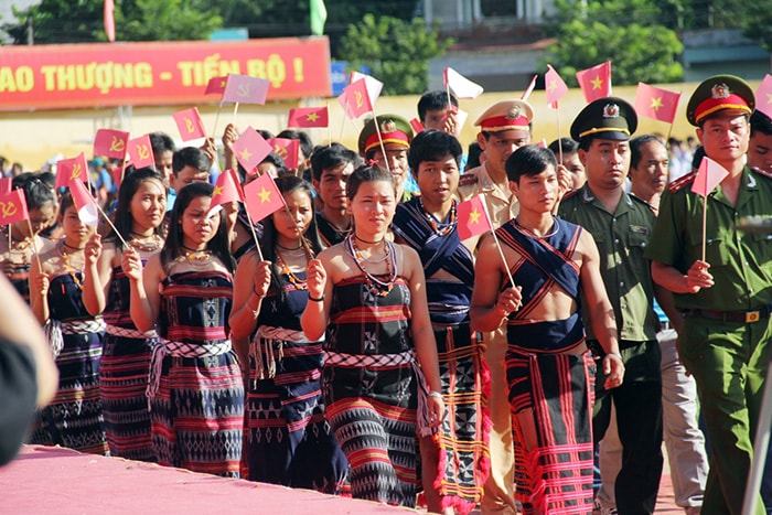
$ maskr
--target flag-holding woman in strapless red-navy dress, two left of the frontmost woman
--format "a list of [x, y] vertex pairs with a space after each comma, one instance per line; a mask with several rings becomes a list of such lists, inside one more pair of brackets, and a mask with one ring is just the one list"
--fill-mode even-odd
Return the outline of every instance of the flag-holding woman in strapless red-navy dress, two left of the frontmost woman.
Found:
[[210, 184], [178, 192], [163, 249], [142, 270], [127, 249], [131, 320], [158, 324], [148, 397], [158, 461], [195, 472], [238, 478], [244, 385], [227, 326], [233, 259], [224, 219], [212, 210]]

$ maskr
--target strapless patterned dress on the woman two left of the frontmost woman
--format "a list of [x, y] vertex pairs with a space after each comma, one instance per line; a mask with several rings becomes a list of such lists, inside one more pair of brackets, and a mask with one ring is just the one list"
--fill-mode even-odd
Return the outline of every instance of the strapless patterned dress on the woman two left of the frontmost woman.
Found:
[[238, 478], [244, 384], [226, 326], [230, 275], [172, 270], [161, 296], [148, 391], [158, 461]]

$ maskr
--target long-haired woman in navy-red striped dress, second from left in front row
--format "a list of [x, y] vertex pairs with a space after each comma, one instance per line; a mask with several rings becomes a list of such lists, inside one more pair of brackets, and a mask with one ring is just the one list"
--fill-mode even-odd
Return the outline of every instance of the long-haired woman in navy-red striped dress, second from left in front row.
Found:
[[157, 334], [154, 330], [138, 331], [131, 321], [131, 289], [121, 269], [124, 242], [147, 264], [163, 246], [165, 211], [161, 175], [152, 168], [131, 171], [118, 191], [114, 223], [118, 234], [111, 230], [104, 244], [99, 235], [94, 235], [85, 250], [96, 259], [89, 259], [86, 267], [83, 302], [89, 313], [104, 313], [107, 324], [99, 373], [105, 431], [110, 455], [130, 460], [156, 461], [146, 390]]

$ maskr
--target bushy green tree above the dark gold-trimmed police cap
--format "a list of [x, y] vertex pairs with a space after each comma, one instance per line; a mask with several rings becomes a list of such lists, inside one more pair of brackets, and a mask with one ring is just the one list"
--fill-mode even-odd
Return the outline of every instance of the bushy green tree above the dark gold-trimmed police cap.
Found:
[[[676, 57], [684, 49], [677, 34], [658, 24], [651, 0], [557, 0], [547, 32], [557, 39], [547, 62], [571, 86], [576, 72], [611, 61], [616, 85], [680, 81]], [[578, 11], [578, 12], [577, 12]]]

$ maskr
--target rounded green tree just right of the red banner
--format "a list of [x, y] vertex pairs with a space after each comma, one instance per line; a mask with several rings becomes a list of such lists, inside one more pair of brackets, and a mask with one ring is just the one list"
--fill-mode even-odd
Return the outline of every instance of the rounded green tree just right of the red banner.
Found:
[[369, 66], [384, 83], [384, 93], [420, 94], [429, 83], [429, 60], [442, 55], [451, 44], [450, 39], [439, 39], [438, 26], [427, 30], [420, 18], [405, 22], [366, 14], [349, 26], [337, 56], [353, 67]]

